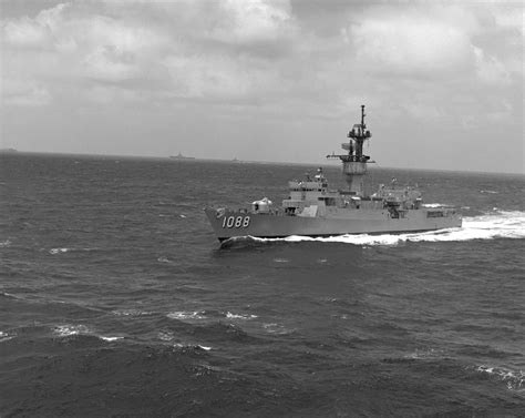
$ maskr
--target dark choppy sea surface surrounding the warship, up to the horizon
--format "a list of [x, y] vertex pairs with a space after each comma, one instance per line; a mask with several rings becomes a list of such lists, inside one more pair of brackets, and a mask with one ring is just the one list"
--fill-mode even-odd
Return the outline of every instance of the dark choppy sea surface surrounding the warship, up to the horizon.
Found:
[[1, 155], [0, 416], [525, 416], [524, 176], [374, 169], [463, 228], [219, 245], [315, 169]]

